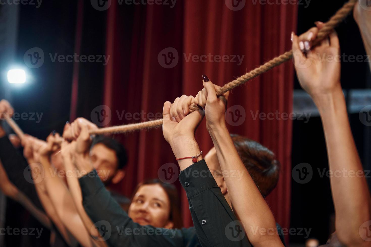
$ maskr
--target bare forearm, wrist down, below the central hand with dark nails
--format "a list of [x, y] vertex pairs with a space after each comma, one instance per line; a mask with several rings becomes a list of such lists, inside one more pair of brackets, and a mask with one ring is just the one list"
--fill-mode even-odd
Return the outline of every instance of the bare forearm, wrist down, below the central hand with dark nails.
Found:
[[[253, 246], [282, 246], [278, 234], [259, 235], [256, 228], [275, 229], [275, 219], [253, 179], [242, 163], [225, 126], [210, 130], [222, 172], [240, 174], [240, 179], [224, 176], [227, 191], [237, 217], [244, 223]], [[259, 231], [258, 231], [259, 233]]]

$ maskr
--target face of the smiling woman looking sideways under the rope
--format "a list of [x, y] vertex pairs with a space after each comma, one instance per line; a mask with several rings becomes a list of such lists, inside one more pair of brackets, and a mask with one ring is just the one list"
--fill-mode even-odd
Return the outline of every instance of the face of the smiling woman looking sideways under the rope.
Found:
[[142, 226], [173, 227], [173, 222], [169, 220], [169, 197], [158, 184], [145, 184], [139, 187], [130, 204], [128, 215]]

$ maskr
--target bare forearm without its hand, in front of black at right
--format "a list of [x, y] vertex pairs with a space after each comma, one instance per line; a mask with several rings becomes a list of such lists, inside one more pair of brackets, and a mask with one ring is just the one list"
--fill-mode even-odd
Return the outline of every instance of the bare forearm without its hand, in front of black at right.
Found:
[[349, 125], [341, 88], [313, 97], [325, 132], [338, 236], [359, 240], [358, 228], [370, 220], [370, 193]]

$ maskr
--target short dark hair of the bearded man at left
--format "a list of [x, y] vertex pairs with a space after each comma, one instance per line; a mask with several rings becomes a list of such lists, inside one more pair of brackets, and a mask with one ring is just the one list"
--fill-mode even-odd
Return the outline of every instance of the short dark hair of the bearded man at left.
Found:
[[94, 147], [96, 144], [101, 143], [109, 149], [112, 149], [116, 153], [117, 157], [117, 168], [122, 169], [128, 163], [128, 155], [124, 146], [113, 138], [107, 136], [96, 136], [93, 138], [93, 142], [90, 148]]

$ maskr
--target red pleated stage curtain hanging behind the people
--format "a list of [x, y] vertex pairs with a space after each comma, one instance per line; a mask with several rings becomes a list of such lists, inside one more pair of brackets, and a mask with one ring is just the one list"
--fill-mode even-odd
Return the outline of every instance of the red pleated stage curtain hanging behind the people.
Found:
[[[296, 5], [242, 0], [240, 4], [244, 3], [244, 7], [234, 11], [227, 7], [232, 6], [232, 1], [178, 0], [171, 8], [157, 4], [119, 5], [112, 0], [107, 10], [106, 31], [106, 54], [111, 58], [105, 67], [104, 82], [104, 104], [112, 112], [109, 125], [144, 121], [125, 119], [125, 113], [155, 115], [162, 112], [164, 101], [173, 101], [182, 94], [195, 96], [202, 89], [202, 74], [223, 85], [290, 49], [290, 33], [296, 30]], [[173, 68], [164, 68], [158, 61], [160, 51], [168, 47], [178, 53], [173, 53], [178, 57]], [[197, 62], [192, 57], [188, 60], [189, 56], [209, 53], [210, 61], [206, 58], [207, 62]], [[237, 62], [218, 62], [216, 55], [227, 55]], [[234, 58], [237, 55], [244, 56], [241, 64]], [[282, 164], [277, 188], [267, 197], [282, 227], [289, 227], [292, 121], [280, 119], [276, 111], [280, 114], [292, 111], [293, 73], [289, 61], [234, 89], [229, 101], [229, 107], [242, 106], [246, 117], [239, 126], [228, 125], [230, 132], [259, 141], [273, 150]], [[257, 113], [279, 117], [264, 120], [256, 117]], [[145, 114], [142, 116], [146, 118]], [[176, 163], [161, 128], [116, 137], [129, 153], [127, 176], [118, 186], [127, 196], [140, 181], [157, 177], [162, 164]], [[205, 153], [213, 145], [204, 123], [196, 138]], [[178, 181], [175, 184], [180, 187]], [[192, 220], [185, 193], [181, 193], [187, 227]]]

